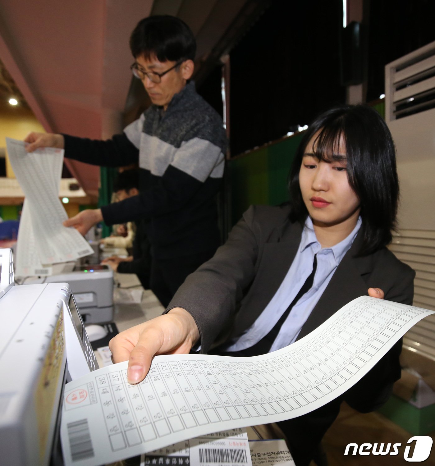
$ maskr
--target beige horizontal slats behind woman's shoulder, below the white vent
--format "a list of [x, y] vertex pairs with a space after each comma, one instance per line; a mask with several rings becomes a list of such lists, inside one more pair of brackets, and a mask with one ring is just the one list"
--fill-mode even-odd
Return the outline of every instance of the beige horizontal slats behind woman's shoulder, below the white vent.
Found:
[[[435, 310], [435, 231], [400, 230], [389, 248], [415, 270], [414, 306]], [[415, 324], [403, 345], [435, 360], [435, 315]]]

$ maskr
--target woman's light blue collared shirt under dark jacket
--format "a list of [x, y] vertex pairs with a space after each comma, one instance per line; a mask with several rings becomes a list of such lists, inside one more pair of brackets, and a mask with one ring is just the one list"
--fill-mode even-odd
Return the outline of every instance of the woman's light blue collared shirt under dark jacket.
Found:
[[328, 286], [338, 264], [352, 246], [360, 226], [361, 217], [359, 217], [355, 228], [347, 238], [335, 246], [322, 249], [316, 238], [316, 233], [314, 233], [312, 220], [310, 217], [307, 217], [295, 259], [275, 295], [251, 327], [242, 336], [236, 337], [223, 350], [230, 352], [250, 348], [273, 329], [276, 322], [278, 322], [284, 311], [293, 302], [305, 281], [311, 275], [314, 255], [317, 254], [317, 269], [313, 285], [291, 309], [270, 351], [284, 348], [293, 343], [320, 299], [320, 296], [322, 296]]

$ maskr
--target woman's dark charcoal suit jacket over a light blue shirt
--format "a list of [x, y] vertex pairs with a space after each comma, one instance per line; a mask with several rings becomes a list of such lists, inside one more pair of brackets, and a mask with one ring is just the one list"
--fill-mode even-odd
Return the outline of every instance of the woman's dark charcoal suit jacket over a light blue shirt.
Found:
[[[210, 349], [227, 330], [228, 338], [241, 335], [262, 313], [281, 285], [297, 253], [302, 227], [288, 219], [289, 207], [251, 206], [233, 228], [214, 257], [189, 275], [169, 308], [186, 309], [198, 325], [201, 352]], [[357, 257], [361, 234], [338, 265], [331, 281], [304, 323], [298, 339], [316, 329], [354, 298], [367, 295], [369, 287], [381, 288], [385, 299], [412, 304], [414, 271], [387, 248]], [[229, 331], [228, 331], [229, 329]], [[360, 411], [376, 407], [375, 398], [400, 378], [401, 342], [348, 391]], [[361, 402], [365, 391], [367, 403]], [[373, 392], [373, 396], [370, 396]], [[372, 399], [370, 399], [372, 398]], [[379, 401], [379, 400], [378, 400]]]

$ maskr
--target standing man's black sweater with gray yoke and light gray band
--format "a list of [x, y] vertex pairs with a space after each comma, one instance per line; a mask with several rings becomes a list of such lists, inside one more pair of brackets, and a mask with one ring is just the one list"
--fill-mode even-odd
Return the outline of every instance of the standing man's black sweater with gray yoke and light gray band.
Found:
[[152, 255], [170, 259], [219, 245], [216, 194], [227, 144], [219, 115], [190, 82], [166, 112], [152, 105], [107, 141], [65, 137], [65, 157], [100, 166], [138, 163], [140, 194], [102, 207], [108, 225], [145, 220]]

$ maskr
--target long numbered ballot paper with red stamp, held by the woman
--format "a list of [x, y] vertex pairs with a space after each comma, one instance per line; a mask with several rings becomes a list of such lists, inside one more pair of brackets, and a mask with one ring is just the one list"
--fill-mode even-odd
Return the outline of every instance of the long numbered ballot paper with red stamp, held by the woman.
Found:
[[65, 464], [96, 466], [210, 432], [301, 416], [352, 387], [434, 313], [361, 296], [273, 353], [156, 356], [137, 385], [127, 382], [127, 362], [91, 372], [65, 387]]

